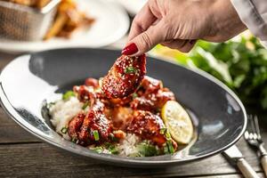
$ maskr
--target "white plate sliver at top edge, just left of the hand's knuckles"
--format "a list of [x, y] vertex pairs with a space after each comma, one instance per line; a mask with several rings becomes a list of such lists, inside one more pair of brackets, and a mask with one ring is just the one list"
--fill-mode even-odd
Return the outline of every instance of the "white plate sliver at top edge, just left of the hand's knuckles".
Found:
[[147, 0], [117, 0], [117, 2], [122, 4], [131, 15], [135, 15], [147, 3]]

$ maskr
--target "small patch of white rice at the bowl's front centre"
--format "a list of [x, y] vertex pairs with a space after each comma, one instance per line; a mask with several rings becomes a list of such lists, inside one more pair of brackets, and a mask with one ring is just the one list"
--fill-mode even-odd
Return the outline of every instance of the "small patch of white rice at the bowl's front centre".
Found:
[[126, 134], [125, 139], [118, 145], [119, 155], [129, 157], [138, 154], [136, 145], [139, 142], [140, 139], [135, 134]]

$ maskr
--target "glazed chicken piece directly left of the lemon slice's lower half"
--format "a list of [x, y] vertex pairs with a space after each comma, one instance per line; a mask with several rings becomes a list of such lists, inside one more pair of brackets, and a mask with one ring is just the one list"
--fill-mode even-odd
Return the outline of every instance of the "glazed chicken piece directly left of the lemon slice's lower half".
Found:
[[162, 146], [166, 143], [166, 137], [164, 134], [160, 134], [160, 129], [164, 128], [166, 126], [157, 115], [152, 114], [150, 111], [135, 110], [134, 117], [126, 130], [129, 133], [140, 136], [142, 140], [150, 140], [158, 146]]

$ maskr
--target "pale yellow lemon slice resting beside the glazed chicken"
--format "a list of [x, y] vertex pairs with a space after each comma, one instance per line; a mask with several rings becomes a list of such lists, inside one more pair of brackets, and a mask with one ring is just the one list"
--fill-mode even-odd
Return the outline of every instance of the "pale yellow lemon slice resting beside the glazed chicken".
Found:
[[188, 144], [193, 136], [190, 116], [176, 101], [167, 101], [161, 110], [161, 117], [174, 141]]

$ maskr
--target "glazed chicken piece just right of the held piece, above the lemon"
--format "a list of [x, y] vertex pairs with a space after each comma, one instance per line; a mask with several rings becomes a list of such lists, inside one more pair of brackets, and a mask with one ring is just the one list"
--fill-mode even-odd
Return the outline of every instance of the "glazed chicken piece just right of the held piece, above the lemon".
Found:
[[161, 109], [166, 101], [175, 100], [174, 93], [164, 88], [161, 81], [147, 76], [142, 80], [142, 85], [136, 94], [138, 97], [131, 102], [132, 109], [154, 111]]

